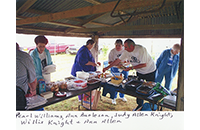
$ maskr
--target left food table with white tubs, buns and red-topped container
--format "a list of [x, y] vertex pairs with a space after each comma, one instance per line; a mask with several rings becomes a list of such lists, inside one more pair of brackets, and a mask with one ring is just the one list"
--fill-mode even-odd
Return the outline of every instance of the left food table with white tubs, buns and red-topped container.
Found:
[[[77, 72], [77, 77], [66, 77], [57, 82], [45, 83], [39, 82], [37, 86], [37, 95], [26, 95], [27, 110], [37, 110], [42, 107], [84, 94], [84, 96], [93, 95], [93, 90], [100, 89], [102, 73], [100, 72]], [[103, 74], [104, 78], [109, 77], [110, 74]], [[84, 100], [84, 97], [82, 98]], [[90, 101], [90, 100], [89, 100]], [[84, 101], [79, 105], [85, 107]], [[87, 109], [92, 109], [91, 102]], [[87, 104], [86, 104], [87, 105]]]

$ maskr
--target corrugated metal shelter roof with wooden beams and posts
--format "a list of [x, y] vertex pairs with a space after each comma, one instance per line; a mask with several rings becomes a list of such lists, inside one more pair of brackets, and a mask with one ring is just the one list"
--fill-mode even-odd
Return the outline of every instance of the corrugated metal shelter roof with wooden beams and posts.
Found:
[[[16, 0], [16, 33], [182, 38], [177, 110], [184, 110], [183, 0]], [[97, 58], [97, 54], [95, 54]]]

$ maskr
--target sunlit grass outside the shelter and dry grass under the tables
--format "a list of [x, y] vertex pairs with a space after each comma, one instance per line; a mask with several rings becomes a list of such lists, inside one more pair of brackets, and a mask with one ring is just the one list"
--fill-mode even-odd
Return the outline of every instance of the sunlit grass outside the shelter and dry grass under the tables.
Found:
[[[56, 72], [51, 74], [51, 81], [64, 80], [65, 77], [71, 76], [71, 68], [74, 63], [75, 55], [70, 54], [57, 54], [52, 55], [53, 63], [56, 65]], [[103, 64], [106, 58], [102, 55], [99, 56], [99, 61]], [[100, 70], [102, 68], [99, 68]], [[134, 73], [133, 71], [129, 74]], [[177, 76], [175, 77], [172, 89], [177, 87]], [[101, 89], [102, 90], [102, 89]], [[113, 105], [111, 103], [110, 95], [107, 94], [106, 97], [101, 96], [101, 100], [98, 103], [97, 111], [132, 111], [136, 106], [136, 98], [132, 96], [125, 95], [127, 102], [123, 102], [119, 98], [117, 98], [117, 104]], [[119, 95], [118, 95], [119, 97]], [[73, 97], [50, 106], [45, 107], [44, 109], [47, 111], [78, 111], [78, 96]], [[86, 109], [81, 107], [82, 111]], [[169, 110], [165, 109], [164, 110]]]

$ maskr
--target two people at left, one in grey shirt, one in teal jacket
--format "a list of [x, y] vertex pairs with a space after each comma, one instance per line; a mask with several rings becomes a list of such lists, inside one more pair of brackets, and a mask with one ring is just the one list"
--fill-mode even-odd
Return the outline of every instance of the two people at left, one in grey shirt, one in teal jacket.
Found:
[[25, 95], [36, 95], [36, 86], [45, 81], [43, 69], [52, 65], [49, 50], [45, 48], [48, 39], [45, 36], [35, 38], [36, 48], [30, 53], [20, 51], [16, 43], [16, 110], [25, 110]]

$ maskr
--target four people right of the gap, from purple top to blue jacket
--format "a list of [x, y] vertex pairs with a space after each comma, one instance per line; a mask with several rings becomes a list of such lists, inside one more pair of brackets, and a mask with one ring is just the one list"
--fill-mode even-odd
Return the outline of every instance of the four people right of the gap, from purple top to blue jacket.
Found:
[[[90, 51], [93, 48], [94, 43], [95, 42], [92, 39], [88, 40], [86, 45], [83, 45], [77, 52], [71, 71], [73, 76], [76, 76], [77, 71], [96, 71], [96, 66], [101, 65], [100, 62], [95, 62]], [[103, 72], [108, 69], [114, 73], [120, 72], [123, 74], [124, 79], [126, 79], [129, 70], [135, 69], [139, 80], [143, 79], [160, 83], [162, 82], [163, 77], [165, 77], [165, 88], [170, 90], [173, 78], [175, 77], [179, 66], [179, 52], [180, 45], [175, 44], [171, 49], [163, 51], [155, 64], [145, 47], [135, 44], [131, 39], [125, 40], [124, 44], [121, 39], [117, 39], [115, 48], [109, 53], [109, 65], [103, 68]], [[120, 71], [117, 66], [120, 66], [124, 62], [130, 63], [131, 65], [123, 71]], [[122, 101], [127, 101], [123, 93], [119, 93], [119, 97]], [[116, 98], [117, 92], [115, 92], [112, 104], [116, 104]], [[81, 100], [81, 95], [79, 95], [79, 100]], [[137, 98], [137, 104], [138, 106], [136, 109], [143, 105], [143, 100]]]

